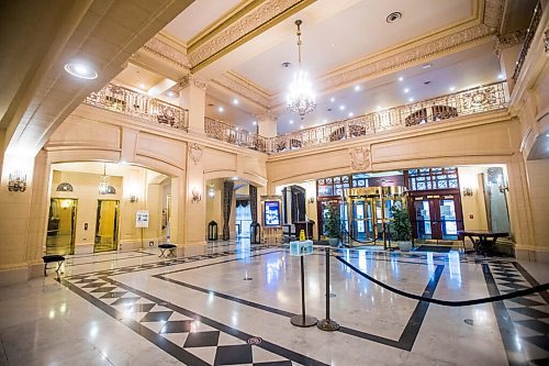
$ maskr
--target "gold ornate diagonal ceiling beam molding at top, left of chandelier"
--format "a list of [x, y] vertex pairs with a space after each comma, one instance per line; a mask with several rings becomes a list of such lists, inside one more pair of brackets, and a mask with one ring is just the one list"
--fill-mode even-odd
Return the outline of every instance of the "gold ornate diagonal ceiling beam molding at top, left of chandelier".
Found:
[[189, 59], [198, 70], [225, 55], [273, 24], [292, 15], [315, 0], [266, 0], [233, 23], [216, 31], [208, 41], [192, 48]]

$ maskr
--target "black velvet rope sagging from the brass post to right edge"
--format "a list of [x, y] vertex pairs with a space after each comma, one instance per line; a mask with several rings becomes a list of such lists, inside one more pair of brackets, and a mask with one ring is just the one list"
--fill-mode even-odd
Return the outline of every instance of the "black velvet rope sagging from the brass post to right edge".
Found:
[[379, 281], [376, 278], [368, 276], [367, 274], [365, 274], [363, 271], [361, 271], [360, 269], [358, 269], [357, 267], [355, 267], [354, 265], [351, 265], [347, 260], [343, 259], [341, 257], [339, 257], [337, 255], [335, 255], [335, 257], [337, 260], [341, 262], [344, 265], [348, 266], [350, 269], [355, 270], [360, 276], [367, 278], [368, 280], [374, 282], [378, 286], [383, 287], [384, 289], [386, 289], [389, 291], [392, 291], [394, 293], [397, 293], [397, 295], [403, 296], [403, 297], [408, 298], [408, 299], [432, 302], [432, 303], [436, 303], [436, 304], [444, 306], [444, 307], [468, 307], [468, 306], [472, 306], [472, 304], [519, 298], [523, 296], [549, 290], [549, 284], [544, 284], [544, 285], [534, 286], [534, 287], [530, 287], [527, 289], [508, 292], [505, 295], [498, 295], [498, 296], [474, 299], [474, 300], [448, 301], [448, 300], [432, 299], [432, 298], [425, 298], [423, 296], [405, 292], [403, 290], [399, 290], [394, 287], [385, 285], [382, 281]]

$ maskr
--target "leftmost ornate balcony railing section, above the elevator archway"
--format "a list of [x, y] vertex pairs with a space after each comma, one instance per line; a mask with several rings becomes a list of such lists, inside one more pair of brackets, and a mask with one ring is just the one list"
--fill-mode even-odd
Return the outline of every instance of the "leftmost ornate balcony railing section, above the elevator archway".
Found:
[[90, 93], [85, 103], [178, 130], [189, 126], [188, 110], [113, 84]]

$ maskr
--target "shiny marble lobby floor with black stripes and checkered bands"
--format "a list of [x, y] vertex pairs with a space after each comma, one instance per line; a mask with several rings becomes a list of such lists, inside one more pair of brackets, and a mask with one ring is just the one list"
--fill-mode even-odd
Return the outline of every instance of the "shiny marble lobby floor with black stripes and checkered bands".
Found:
[[[477, 299], [545, 282], [547, 266], [450, 253], [339, 249], [425, 298]], [[304, 257], [306, 312], [325, 318], [326, 257]], [[339, 331], [296, 328], [300, 258], [219, 242], [177, 258], [68, 256], [64, 273], [1, 288], [1, 365], [548, 365], [549, 295], [442, 307], [395, 295], [329, 259]]]

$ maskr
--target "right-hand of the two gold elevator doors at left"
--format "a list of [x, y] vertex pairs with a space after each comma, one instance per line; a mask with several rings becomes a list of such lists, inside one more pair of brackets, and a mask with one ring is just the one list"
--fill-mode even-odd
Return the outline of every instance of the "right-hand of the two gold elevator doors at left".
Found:
[[93, 253], [115, 251], [119, 245], [117, 200], [98, 200]]

